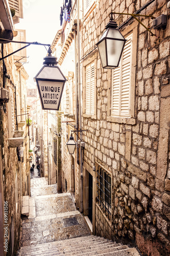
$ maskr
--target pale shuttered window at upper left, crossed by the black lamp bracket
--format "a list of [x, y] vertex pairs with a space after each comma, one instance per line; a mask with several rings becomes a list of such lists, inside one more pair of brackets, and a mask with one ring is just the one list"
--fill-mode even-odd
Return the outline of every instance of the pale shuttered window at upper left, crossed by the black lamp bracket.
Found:
[[[26, 41], [26, 30], [16, 29], [16, 31], [18, 32], [18, 34], [15, 37], [15, 41], [24, 41], [25, 42]], [[20, 43], [15, 43], [14, 45], [15, 45], [14, 46], [15, 51], [25, 46], [25, 44], [20, 44]], [[14, 56], [15, 56], [15, 59], [17, 59], [17, 60], [21, 59], [22, 57], [27, 57], [26, 48], [22, 49], [21, 51], [18, 51], [17, 53], [15, 53]], [[27, 58], [22, 58], [20, 61], [26, 62]]]

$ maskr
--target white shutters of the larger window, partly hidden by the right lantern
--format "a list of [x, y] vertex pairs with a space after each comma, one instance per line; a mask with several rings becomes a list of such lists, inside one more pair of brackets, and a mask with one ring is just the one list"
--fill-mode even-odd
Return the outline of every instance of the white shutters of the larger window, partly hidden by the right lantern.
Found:
[[130, 116], [132, 34], [127, 38], [119, 67], [112, 73], [111, 114]]

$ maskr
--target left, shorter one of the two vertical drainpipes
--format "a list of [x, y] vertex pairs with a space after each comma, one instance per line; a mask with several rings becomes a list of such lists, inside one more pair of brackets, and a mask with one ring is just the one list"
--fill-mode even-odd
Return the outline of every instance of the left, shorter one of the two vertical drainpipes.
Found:
[[[76, 129], [79, 130], [79, 101], [78, 101], [78, 70], [77, 70], [77, 35], [76, 30], [74, 31], [75, 38], [75, 73], [76, 73]], [[78, 135], [78, 132], [76, 133]], [[77, 146], [78, 146], [78, 136], [77, 136]], [[79, 151], [77, 150], [77, 163], [79, 164]]]

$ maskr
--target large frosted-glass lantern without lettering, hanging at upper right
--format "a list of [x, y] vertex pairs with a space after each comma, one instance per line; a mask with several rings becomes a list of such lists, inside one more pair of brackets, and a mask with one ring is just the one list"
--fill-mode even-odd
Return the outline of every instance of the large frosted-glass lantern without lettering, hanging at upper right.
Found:
[[113, 21], [113, 13], [110, 14], [110, 22], [106, 25], [106, 31], [96, 44], [103, 69], [118, 67], [126, 42], [125, 37], [116, 29], [117, 23]]

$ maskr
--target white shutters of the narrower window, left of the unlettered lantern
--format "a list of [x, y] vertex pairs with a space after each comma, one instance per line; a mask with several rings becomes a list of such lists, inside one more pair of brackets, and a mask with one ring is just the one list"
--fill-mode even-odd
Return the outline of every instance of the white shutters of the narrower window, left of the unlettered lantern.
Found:
[[86, 114], [94, 114], [94, 62], [86, 66]]

